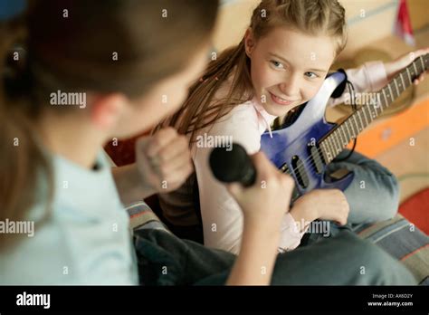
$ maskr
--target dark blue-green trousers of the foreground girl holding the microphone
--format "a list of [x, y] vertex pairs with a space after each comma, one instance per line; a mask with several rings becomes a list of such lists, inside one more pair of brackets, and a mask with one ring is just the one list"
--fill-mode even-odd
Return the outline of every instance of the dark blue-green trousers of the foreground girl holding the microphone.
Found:
[[[142, 285], [222, 285], [235, 255], [182, 240], [166, 230], [135, 232]], [[279, 254], [272, 285], [411, 285], [414, 276], [392, 256], [349, 231]]]

